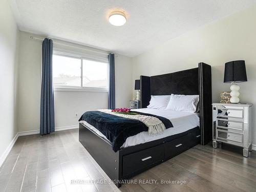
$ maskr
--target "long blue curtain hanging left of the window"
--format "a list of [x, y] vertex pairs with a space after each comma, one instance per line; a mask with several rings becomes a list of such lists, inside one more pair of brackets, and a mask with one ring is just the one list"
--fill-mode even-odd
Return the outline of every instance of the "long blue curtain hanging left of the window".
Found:
[[52, 84], [53, 41], [45, 38], [42, 42], [42, 81], [40, 106], [40, 134], [55, 131], [54, 96]]

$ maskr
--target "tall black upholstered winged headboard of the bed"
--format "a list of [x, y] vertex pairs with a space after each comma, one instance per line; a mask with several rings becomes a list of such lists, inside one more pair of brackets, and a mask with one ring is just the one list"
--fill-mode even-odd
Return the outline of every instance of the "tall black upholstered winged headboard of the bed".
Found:
[[151, 95], [199, 95], [201, 144], [211, 141], [211, 67], [203, 62], [198, 68], [156, 76], [140, 76], [141, 108], [150, 103]]

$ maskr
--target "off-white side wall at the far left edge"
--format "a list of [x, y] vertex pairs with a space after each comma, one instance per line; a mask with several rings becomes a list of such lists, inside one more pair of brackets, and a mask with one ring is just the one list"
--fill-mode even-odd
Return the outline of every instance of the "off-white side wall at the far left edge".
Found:
[[17, 134], [16, 72], [19, 33], [8, 1], [0, 1], [0, 165]]

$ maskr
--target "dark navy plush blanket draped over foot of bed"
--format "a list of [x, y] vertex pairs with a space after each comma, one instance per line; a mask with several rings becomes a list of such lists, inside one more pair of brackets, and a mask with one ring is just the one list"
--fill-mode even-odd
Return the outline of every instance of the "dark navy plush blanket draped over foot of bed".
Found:
[[[135, 113], [157, 117], [163, 122], [166, 129], [173, 127], [172, 122], [164, 117], [140, 112]], [[88, 111], [80, 117], [79, 121], [81, 120], [87, 121], [108, 138], [112, 143], [114, 152], [120, 150], [128, 137], [148, 131], [148, 127], [139, 120], [127, 119], [100, 111]]]

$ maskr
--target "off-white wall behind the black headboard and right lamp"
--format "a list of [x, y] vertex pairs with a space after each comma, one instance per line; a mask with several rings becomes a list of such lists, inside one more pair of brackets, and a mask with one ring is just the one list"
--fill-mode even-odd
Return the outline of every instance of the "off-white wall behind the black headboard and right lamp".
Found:
[[[212, 101], [219, 102], [220, 92], [229, 91], [230, 86], [223, 83], [224, 63], [238, 59], [245, 60], [248, 77], [248, 82], [239, 83], [240, 99], [256, 104], [256, 7], [187, 32], [134, 57], [133, 81], [140, 75], [170, 73], [205, 62], [212, 66]], [[253, 112], [254, 128], [255, 125]], [[253, 139], [256, 143], [256, 131]]]

